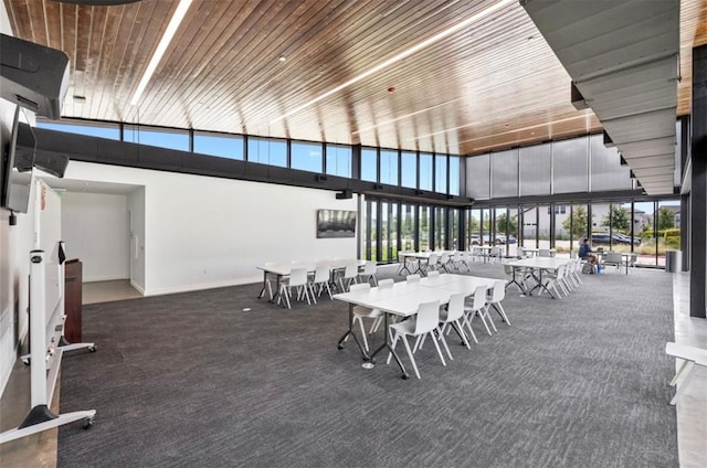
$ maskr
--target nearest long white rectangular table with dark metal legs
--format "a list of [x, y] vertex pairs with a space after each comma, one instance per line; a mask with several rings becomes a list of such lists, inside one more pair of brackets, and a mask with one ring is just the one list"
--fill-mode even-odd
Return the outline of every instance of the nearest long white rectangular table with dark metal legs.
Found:
[[[402, 377], [408, 379], [409, 374], [389, 341], [388, 316], [410, 317], [418, 312], [420, 305], [423, 302], [439, 300], [440, 305], [447, 304], [450, 297], [454, 294], [464, 292], [471, 295], [476, 286], [481, 285], [485, 285], [490, 289], [497, 280], [496, 278], [444, 274], [434, 278], [422, 278], [415, 283], [399, 281], [388, 288], [377, 287], [370, 288], [369, 290], [337, 294], [334, 296], [335, 299], [348, 302], [349, 305], [349, 328], [339, 340], [338, 348], [342, 349], [346, 338], [352, 336], [363, 355], [363, 360], [367, 361], [365, 365], [369, 368], [376, 364], [376, 355], [380, 351], [388, 349], [393, 358], [395, 358], [395, 362], [402, 371]], [[354, 333], [354, 306], [363, 306], [384, 312], [384, 341], [370, 355], [366, 353]]]

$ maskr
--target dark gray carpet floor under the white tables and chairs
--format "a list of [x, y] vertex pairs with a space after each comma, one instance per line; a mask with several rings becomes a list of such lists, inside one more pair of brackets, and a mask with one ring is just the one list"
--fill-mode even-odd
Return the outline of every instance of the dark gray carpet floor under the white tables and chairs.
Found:
[[338, 350], [336, 300], [286, 310], [249, 285], [85, 306], [98, 351], [64, 358], [61, 411], [97, 414], [60, 429], [59, 466], [677, 467], [671, 276], [583, 279], [561, 300], [509, 289], [511, 326], [475, 321], [446, 366], [425, 345], [422, 380]]

